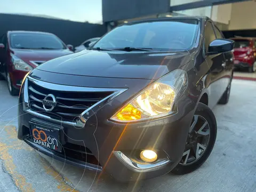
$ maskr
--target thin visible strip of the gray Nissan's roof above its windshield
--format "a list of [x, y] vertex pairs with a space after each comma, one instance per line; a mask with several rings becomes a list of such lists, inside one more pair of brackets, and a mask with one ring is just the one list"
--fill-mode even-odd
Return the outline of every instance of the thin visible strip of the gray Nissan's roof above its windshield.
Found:
[[164, 17], [164, 18], [153, 18], [153, 19], [143, 19], [143, 20], [137, 20], [137, 21], [131, 21], [124, 23], [124, 25], [129, 25], [133, 23], [140, 23], [140, 22], [152, 22], [152, 21], [171, 21], [176, 19], [197, 19], [197, 20], [211, 20], [209, 17], [201, 17], [201, 16], [174, 16], [174, 17]]

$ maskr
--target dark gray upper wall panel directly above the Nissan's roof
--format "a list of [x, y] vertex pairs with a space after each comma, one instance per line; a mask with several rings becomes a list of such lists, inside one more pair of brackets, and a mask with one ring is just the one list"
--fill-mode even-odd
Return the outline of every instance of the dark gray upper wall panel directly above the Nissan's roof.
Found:
[[170, 0], [102, 0], [103, 22], [166, 13]]

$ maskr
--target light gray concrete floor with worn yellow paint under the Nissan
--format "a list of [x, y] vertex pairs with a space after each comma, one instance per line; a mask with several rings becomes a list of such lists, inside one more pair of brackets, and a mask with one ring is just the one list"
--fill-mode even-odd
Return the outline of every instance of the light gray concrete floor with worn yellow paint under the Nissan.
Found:
[[234, 80], [227, 105], [214, 108], [218, 135], [209, 159], [187, 175], [118, 183], [45, 157], [17, 140], [17, 97], [0, 81], [0, 191], [256, 191], [256, 82]]

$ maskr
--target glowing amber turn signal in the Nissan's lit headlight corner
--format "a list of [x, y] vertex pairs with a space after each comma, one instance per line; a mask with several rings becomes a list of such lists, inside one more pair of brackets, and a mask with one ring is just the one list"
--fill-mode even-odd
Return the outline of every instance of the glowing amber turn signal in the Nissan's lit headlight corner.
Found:
[[116, 114], [116, 118], [121, 121], [137, 120], [141, 119], [141, 112], [129, 104]]

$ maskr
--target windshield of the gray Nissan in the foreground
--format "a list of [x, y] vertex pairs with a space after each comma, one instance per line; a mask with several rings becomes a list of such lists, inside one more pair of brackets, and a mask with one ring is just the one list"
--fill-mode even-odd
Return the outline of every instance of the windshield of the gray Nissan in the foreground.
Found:
[[159, 51], [189, 50], [198, 30], [196, 19], [173, 19], [131, 23], [117, 27], [103, 36], [93, 49], [147, 48]]

